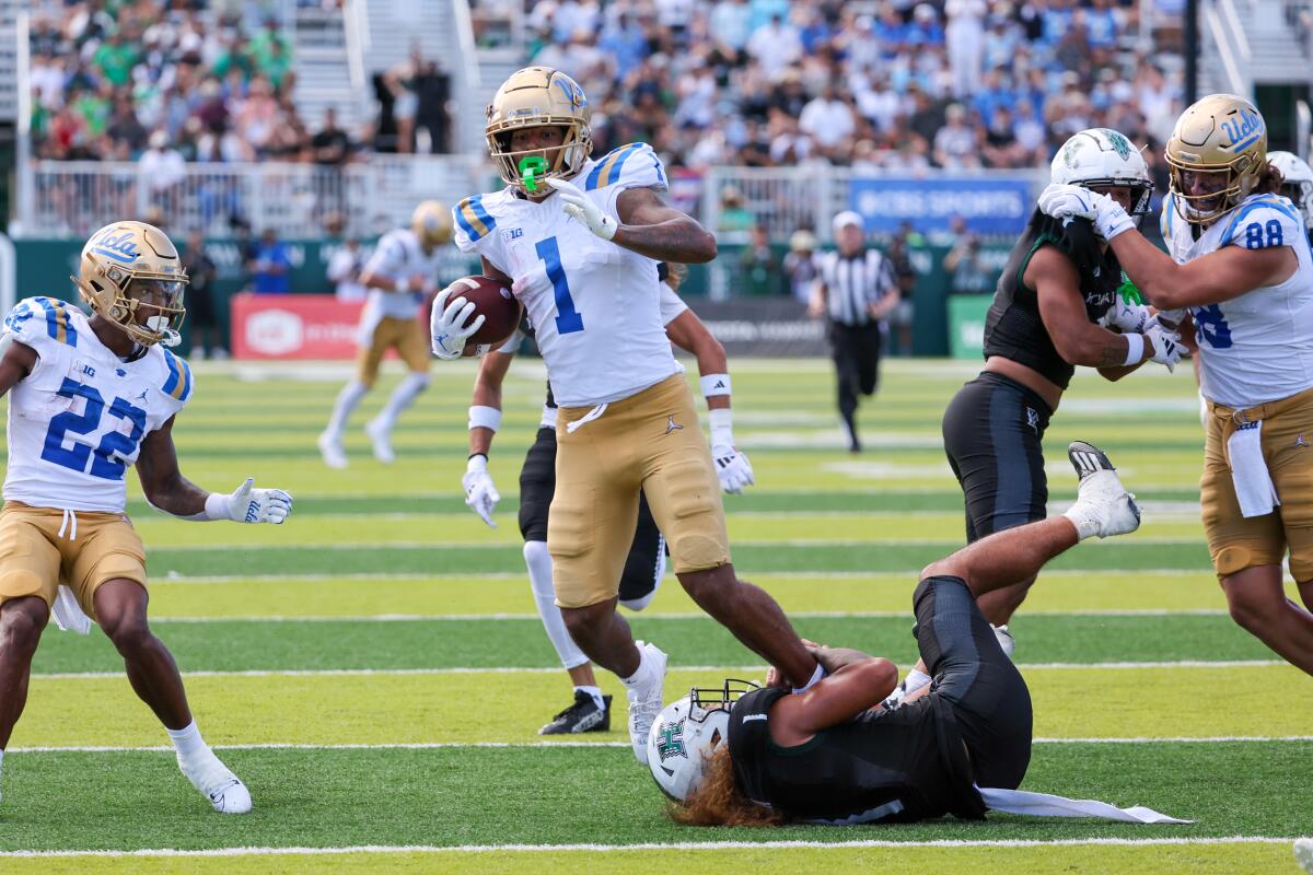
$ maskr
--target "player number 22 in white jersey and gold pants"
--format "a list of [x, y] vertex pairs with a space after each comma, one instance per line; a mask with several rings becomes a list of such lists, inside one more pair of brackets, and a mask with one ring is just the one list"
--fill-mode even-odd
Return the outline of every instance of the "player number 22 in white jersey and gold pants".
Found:
[[79, 277], [91, 319], [54, 298], [20, 300], [4, 321], [0, 395], [9, 392], [9, 466], [0, 512], [0, 762], [28, 698], [32, 656], [51, 611], [114, 643], [133, 690], [168, 731], [183, 774], [217, 811], [251, 809], [251, 794], [201, 739], [177, 665], [146, 622], [146, 552], [123, 514], [123, 474], [146, 500], [183, 519], [281, 523], [282, 489], [206, 492], [179, 472], [173, 420], [192, 371], [179, 342], [177, 251], [142, 222], [87, 241]]

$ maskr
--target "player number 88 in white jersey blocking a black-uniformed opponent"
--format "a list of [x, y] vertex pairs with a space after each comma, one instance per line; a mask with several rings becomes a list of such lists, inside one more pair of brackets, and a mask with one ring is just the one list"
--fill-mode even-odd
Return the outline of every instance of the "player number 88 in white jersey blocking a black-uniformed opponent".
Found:
[[[1166, 159], [1170, 254], [1106, 195], [1049, 186], [1040, 209], [1094, 219], [1149, 303], [1188, 308], [1209, 412], [1200, 501], [1213, 568], [1236, 622], [1313, 674], [1313, 248], [1250, 101], [1190, 106]], [[1304, 607], [1285, 598], [1287, 551]]]

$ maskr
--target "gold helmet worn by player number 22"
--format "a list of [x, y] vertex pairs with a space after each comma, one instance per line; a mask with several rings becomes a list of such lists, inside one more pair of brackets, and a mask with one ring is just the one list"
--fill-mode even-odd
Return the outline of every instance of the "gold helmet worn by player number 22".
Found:
[[186, 272], [173, 241], [154, 224], [114, 222], [91, 235], [72, 281], [95, 312], [138, 344], [176, 346], [181, 340]]

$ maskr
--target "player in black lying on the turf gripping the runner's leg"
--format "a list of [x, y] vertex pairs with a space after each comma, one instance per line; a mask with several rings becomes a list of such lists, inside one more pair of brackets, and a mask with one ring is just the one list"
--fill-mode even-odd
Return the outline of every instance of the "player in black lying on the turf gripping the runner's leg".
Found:
[[1020, 784], [1031, 760], [1031, 695], [976, 600], [1032, 577], [1085, 538], [1140, 525], [1133, 496], [1103, 453], [1075, 442], [1069, 455], [1079, 497], [1066, 513], [977, 540], [922, 572], [913, 635], [935, 683], [899, 708], [880, 704], [898, 682], [893, 662], [811, 643], [829, 674], [805, 693], [789, 695], [772, 670], [765, 687], [744, 693], [726, 681], [722, 690], [695, 689], [667, 706], [649, 735], [647, 762], [662, 790], [681, 803], [675, 819], [699, 825], [979, 819], [986, 805], [1002, 809], [1007, 796], [1023, 795], [1007, 791]]

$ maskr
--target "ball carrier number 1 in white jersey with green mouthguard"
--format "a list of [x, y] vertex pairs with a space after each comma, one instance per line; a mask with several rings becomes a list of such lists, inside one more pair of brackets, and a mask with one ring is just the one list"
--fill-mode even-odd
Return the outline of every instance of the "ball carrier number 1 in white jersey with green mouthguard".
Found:
[[[666, 655], [635, 645], [616, 613], [639, 491], [702, 610], [794, 687], [822, 669], [775, 600], [734, 573], [716, 464], [660, 320], [656, 264], [710, 261], [716, 237], [662, 201], [666, 171], [651, 147], [591, 159], [590, 115], [565, 73], [512, 73], [484, 129], [507, 186], [457, 205], [456, 244], [512, 283], [537, 332], [561, 405], [548, 525], [555, 601], [579, 648], [625, 682], [630, 741], [646, 762]], [[482, 324], [457, 291], [433, 302], [440, 358], [460, 357]]]

